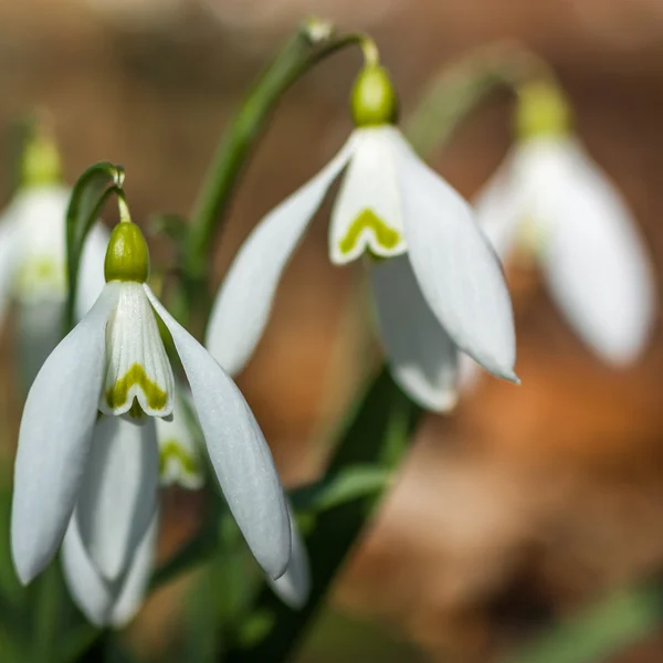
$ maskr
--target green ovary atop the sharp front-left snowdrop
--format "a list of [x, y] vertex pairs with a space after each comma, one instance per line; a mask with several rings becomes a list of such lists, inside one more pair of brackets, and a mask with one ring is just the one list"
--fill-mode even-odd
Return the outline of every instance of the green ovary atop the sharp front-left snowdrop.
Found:
[[118, 223], [110, 233], [104, 275], [108, 281], [145, 283], [149, 277], [149, 250], [140, 229], [130, 221]]

